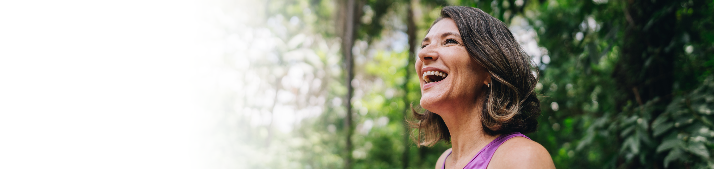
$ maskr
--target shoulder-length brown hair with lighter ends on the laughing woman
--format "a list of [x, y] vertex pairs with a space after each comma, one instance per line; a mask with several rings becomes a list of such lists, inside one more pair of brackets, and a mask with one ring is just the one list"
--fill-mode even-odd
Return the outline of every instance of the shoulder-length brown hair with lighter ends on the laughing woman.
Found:
[[[531, 56], [523, 51], [506, 24], [491, 15], [468, 6], [446, 6], [441, 17], [456, 22], [468, 54], [491, 74], [491, 87], [483, 99], [481, 123], [489, 135], [512, 132], [533, 133], [538, 126], [540, 101], [533, 88], [538, 83]], [[431, 29], [431, 28], [430, 28]], [[474, 82], [477, 83], [477, 82]], [[408, 121], [418, 146], [451, 141], [451, 134], [441, 116], [428, 110], [418, 113], [411, 108], [416, 122]]]

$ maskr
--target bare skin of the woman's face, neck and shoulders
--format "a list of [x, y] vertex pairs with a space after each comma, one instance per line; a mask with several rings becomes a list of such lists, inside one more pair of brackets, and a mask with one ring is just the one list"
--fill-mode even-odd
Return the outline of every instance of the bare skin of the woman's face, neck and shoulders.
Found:
[[[441, 155], [436, 169], [441, 169], [445, 161], [446, 168], [464, 168], [479, 150], [499, 136], [486, 134], [481, 126], [479, 103], [483, 103], [483, 97], [480, 96], [488, 88], [486, 84], [491, 83], [491, 76], [468, 55], [452, 19], [443, 19], [432, 26], [422, 46], [415, 65], [420, 79], [425, 71], [434, 68], [448, 74], [436, 83], [420, 81], [421, 106], [441, 116], [451, 133], [452, 148]], [[488, 168], [555, 168], [555, 165], [542, 145], [516, 137], [496, 150]]]

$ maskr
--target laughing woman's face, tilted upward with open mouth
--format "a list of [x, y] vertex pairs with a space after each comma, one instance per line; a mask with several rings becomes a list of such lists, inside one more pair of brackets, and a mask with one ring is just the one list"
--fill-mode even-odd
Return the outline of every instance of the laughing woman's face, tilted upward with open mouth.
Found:
[[439, 113], [476, 106], [490, 76], [468, 55], [452, 19], [438, 21], [421, 42], [415, 68], [421, 86], [420, 104]]

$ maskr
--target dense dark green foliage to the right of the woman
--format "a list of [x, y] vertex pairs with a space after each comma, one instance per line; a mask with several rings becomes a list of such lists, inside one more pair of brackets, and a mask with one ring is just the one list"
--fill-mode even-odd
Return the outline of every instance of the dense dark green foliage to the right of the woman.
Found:
[[541, 66], [543, 118], [531, 138], [558, 168], [714, 168], [703, 101], [713, 1], [533, 1], [529, 9], [552, 60]]

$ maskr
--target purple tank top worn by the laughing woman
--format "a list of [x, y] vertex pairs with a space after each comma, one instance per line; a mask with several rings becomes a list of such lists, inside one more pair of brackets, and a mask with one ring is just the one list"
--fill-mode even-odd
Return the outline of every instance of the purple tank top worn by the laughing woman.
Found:
[[[473, 159], [471, 159], [471, 162], [468, 162], [468, 164], [463, 167], [463, 169], [486, 169], [486, 167], [488, 167], [488, 162], [491, 162], [491, 158], [493, 158], [493, 153], [496, 153], [496, 149], [498, 149], [501, 144], [506, 142], [506, 140], [518, 136], [528, 138], [526, 137], [526, 135], [523, 135], [518, 132], [498, 136], [498, 138], [493, 139], [491, 143], [488, 143], [486, 147], [483, 147], [483, 149], [478, 151], [478, 153], [476, 153], [476, 156], [473, 157]], [[451, 155], [451, 152], [449, 152], [448, 155]], [[446, 158], [448, 158], [448, 155], [446, 155]], [[441, 169], [446, 168], [446, 158], [444, 158], [444, 163], [443, 165], [441, 165]]]

